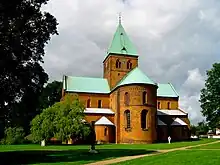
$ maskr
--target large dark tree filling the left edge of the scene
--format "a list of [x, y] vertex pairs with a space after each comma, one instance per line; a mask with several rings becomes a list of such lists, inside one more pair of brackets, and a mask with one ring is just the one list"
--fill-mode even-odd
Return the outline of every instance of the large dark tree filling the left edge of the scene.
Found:
[[44, 47], [58, 33], [56, 19], [41, 11], [47, 1], [0, 1], [0, 121], [4, 126], [29, 125], [48, 80], [41, 66]]

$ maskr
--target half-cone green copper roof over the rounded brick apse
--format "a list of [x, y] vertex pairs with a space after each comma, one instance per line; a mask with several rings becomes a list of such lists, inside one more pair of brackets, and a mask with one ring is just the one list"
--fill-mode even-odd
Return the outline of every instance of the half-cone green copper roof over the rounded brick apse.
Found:
[[149, 77], [147, 77], [138, 67], [130, 71], [115, 88], [128, 84], [152, 84], [157, 85]]

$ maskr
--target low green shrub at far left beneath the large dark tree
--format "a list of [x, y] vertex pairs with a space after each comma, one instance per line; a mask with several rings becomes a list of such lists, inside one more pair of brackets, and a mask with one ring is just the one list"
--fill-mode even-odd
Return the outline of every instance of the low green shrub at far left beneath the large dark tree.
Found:
[[22, 144], [24, 143], [24, 129], [22, 127], [8, 127], [5, 129], [3, 144]]

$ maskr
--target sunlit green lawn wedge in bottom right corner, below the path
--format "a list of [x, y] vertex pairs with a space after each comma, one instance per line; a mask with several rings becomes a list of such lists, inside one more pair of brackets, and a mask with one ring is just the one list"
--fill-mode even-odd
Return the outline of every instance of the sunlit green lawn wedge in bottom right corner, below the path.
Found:
[[134, 159], [117, 165], [217, 165], [219, 162], [220, 151], [183, 150]]

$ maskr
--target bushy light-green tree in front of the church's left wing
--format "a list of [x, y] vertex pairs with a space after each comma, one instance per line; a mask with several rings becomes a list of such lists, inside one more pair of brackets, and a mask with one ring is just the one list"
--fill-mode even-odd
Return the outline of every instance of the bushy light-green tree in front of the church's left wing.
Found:
[[83, 122], [85, 107], [78, 97], [64, 99], [43, 110], [31, 122], [31, 132], [35, 142], [55, 137], [66, 141], [89, 135], [91, 127]]

